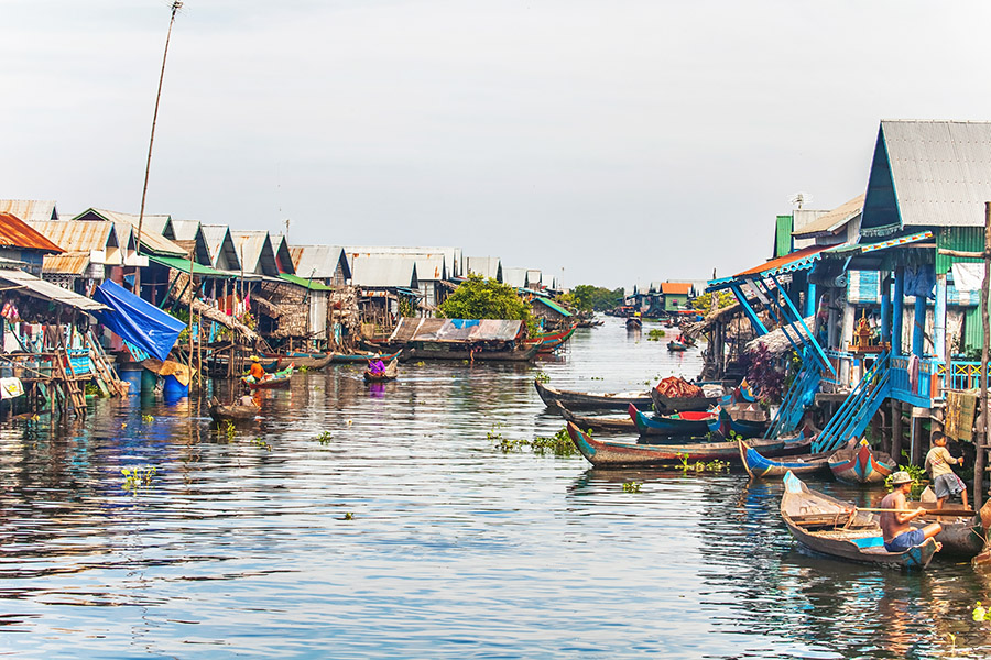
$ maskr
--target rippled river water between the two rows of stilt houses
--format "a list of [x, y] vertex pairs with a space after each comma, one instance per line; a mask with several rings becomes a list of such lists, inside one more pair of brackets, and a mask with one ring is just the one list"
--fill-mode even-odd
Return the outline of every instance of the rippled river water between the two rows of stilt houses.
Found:
[[[982, 658], [991, 574], [796, 551], [777, 483], [502, 453], [534, 388], [645, 387], [695, 352], [579, 330], [537, 366], [303, 374], [232, 437], [183, 400], [0, 432], [0, 652], [123, 658]], [[324, 443], [317, 437], [330, 433]], [[157, 472], [138, 495], [122, 468]], [[624, 482], [642, 482], [640, 493]], [[856, 496], [836, 484], [817, 487]], [[879, 497], [880, 494], [876, 494]], [[350, 514], [350, 516], [349, 516]], [[347, 519], [350, 517], [350, 519]], [[956, 636], [954, 650], [949, 635]]]

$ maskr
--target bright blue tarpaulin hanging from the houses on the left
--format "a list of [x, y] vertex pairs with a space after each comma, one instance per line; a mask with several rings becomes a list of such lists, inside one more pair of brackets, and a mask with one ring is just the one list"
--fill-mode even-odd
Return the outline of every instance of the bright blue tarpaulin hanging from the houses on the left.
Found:
[[186, 328], [177, 318], [110, 279], [92, 293], [92, 299], [110, 308], [98, 314], [101, 323], [159, 360], [168, 358], [179, 332]]

